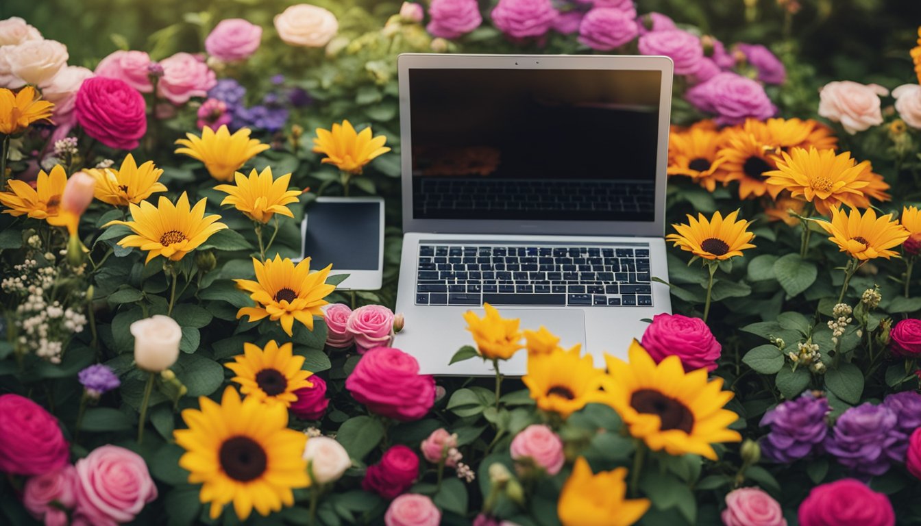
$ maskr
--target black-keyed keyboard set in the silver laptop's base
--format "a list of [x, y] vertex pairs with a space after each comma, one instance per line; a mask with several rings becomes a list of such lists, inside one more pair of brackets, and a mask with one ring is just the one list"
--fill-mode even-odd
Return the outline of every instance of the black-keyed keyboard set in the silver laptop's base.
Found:
[[652, 306], [649, 250], [420, 244], [416, 305]]

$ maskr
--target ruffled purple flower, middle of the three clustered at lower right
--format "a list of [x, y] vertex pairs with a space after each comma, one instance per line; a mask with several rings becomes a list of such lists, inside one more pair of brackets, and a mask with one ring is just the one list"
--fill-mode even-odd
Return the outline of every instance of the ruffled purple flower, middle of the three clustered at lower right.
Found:
[[880, 475], [890, 466], [889, 450], [898, 437], [892, 432], [898, 416], [885, 405], [862, 403], [838, 418], [825, 438], [825, 450], [854, 473]]

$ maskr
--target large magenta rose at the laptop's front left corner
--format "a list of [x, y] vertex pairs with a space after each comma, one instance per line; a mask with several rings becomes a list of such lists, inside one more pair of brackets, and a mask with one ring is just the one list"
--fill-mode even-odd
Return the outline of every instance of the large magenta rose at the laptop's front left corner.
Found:
[[419, 362], [400, 349], [371, 349], [345, 379], [345, 389], [368, 411], [408, 422], [435, 404], [435, 379], [419, 374]]

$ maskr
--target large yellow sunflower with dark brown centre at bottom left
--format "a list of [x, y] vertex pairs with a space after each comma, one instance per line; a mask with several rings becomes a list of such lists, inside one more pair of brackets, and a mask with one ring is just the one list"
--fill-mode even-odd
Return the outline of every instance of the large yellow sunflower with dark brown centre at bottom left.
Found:
[[186, 451], [179, 465], [189, 471], [189, 482], [202, 483], [199, 498], [211, 503], [211, 518], [231, 502], [240, 520], [252, 508], [266, 516], [293, 506], [291, 490], [310, 485], [302, 458], [307, 436], [287, 428], [285, 406], [253, 396], [240, 402], [232, 387], [219, 405], [204, 396], [198, 403], [201, 409], [182, 411], [189, 428], [173, 437]]

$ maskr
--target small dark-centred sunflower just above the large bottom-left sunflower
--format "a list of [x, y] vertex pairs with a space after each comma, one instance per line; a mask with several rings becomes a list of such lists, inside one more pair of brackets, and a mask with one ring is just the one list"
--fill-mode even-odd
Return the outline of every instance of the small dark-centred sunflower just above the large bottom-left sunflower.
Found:
[[298, 389], [313, 387], [307, 379], [313, 373], [304, 367], [304, 357], [296, 357], [290, 342], [278, 346], [274, 340], [260, 349], [243, 344], [243, 354], [225, 367], [237, 373], [230, 379], [239, 383], [239, 391], [265, 403], [282, 403], [290, 407], [297, 402]]

